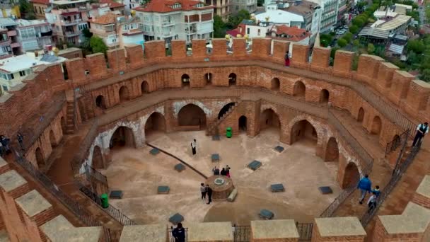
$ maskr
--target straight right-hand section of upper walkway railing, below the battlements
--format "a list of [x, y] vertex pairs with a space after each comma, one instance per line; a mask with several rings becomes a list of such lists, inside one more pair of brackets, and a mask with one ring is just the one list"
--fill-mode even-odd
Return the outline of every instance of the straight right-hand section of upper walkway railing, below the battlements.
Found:
[[359, 81], [351, 80], [351, 88], [364, 98], [364, 100], [371, 103], [373, 108], [376, 108], [378, 112], [382, 113], [384, 117], [388, 118], [388, 120], [395, 125], [399, 125], [404, 130], [413, 130], [416, 127], [416, 124], [412, 120], [409, 120], [409, 118], [400, 113], [397, 108], [387, 103], [380, 95], [373, 93], [370, 88], [367, 88]]

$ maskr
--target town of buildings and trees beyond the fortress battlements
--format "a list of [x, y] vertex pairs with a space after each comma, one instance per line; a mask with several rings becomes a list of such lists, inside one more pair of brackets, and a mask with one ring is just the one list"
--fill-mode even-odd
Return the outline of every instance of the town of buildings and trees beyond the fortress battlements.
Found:
[[[375, 54], [430, 81], [430, 11], [421, 0], [11, 0], [1, 4], [0, 93], [40, 64], [164, 40], [271, 38]], [[318, 39], [318, 40], [317, 40]], [[290, 45], [290, 55], [294, 59]], [[310, 59], [312, 54], [310, 53]]]

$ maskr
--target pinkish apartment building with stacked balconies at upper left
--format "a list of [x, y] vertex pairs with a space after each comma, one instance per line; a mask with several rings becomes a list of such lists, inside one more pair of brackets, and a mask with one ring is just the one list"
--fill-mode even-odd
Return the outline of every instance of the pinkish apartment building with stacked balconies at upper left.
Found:
[[47, 8], [45, 16], [52, 24], [54, 42], [79, 45], [83, 40], [82, 30], [88, 28], [88, 12], [91, 6], [88, 0], [52, 2], [52, 9]]

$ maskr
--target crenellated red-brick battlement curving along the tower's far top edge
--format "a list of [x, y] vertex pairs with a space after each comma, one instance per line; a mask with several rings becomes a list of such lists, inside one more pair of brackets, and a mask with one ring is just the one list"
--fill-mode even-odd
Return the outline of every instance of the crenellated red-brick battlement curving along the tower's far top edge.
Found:
[[[252, 51], [247, 52], [243, 38], [234, 38], [232, 47], [228, 47], [225, 39], [212, 40], [211, 50], [207, 49], [206, 44], [205, 40], [192, 40], [192, 50], [187, 51], [184, 40], [173, 40], [168, 53], [165, 51], [165, 42], [155, 40], [145, 42], [144, 50], [140, 45], [132, 45], [109, 50], [105, 55], [98, 53], [86, 58], [69, 59], [64, 64], [67, 79], [59, 64], [39, 67], [23, 84], [1, 96], [0, 116], [4, 118], [0, 125], [16, 130], [15, 120], [21, 120], [37, 110], [57, 91], [71, 90], [98, 80], [115, 79], [115, 76], [121, 77], [124, 74], [132, 75], [133, 71], [155, 67], [156, 64], [233, 62], [234, 66], [243, 65], [241, 62], [263, 61], [281, 67], [284, 65], [285, 52], [291, 45], [290, 42], [281, 40], [255, 38], [252, 40]], [[330, 67], [330, 48], [314, 47], [311, 62], [308, 45], [293, 44], [292, 50], [291, 67], [343, 78], [346, 86], [351, 79], [366, 83], [385, 100], [390, 100], [393, 105], [411, 115], [412, 120], [430, 119], [429, 112], [426, 112], [430, 110], [430, 85], [414, 81], [414, 76], [400, 71], [382, 58], [361, 54], [358, 69], [353, 71], [354, 52], [338, 50], [334, 64]], [[290, 71], [291, 69], [285, 68], [284, 72], [289, 74]]]

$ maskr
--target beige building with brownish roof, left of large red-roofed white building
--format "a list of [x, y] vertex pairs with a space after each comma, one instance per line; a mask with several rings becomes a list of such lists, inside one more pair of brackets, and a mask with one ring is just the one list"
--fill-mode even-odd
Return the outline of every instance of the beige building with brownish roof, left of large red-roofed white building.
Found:
[[89, 23], [91, 33], [102, 38], [110, 49], [144, 43], [144, 33], [139, 28], [139, 18], [118, 16], [110, 12], [98, 18], [92, 18]]

